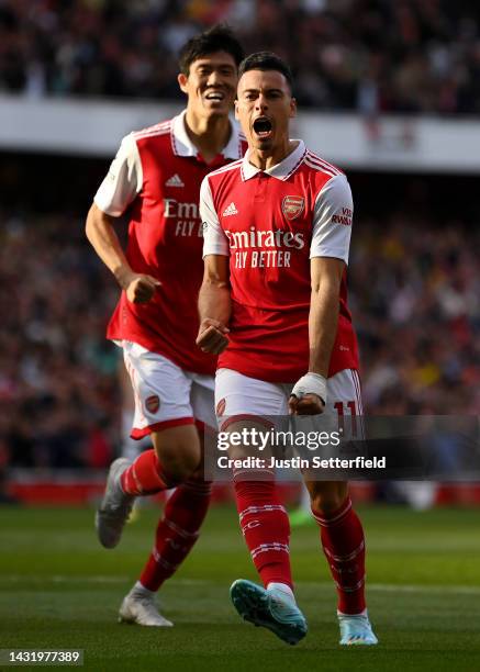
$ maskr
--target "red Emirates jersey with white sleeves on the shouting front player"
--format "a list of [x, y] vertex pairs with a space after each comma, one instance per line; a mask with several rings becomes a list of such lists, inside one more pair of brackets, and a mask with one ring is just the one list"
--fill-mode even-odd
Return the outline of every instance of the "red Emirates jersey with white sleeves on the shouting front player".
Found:
[[[310, 259], [348, 261], [351, 192], [345, 175], [303, 142], [261, 171], [243, 160], [202, 182], [203, 255], [230, 256], [230, 345], [219, 368], [294, 382], [309, 367]], [[358, 368], [346, 272], [328, 376]]]

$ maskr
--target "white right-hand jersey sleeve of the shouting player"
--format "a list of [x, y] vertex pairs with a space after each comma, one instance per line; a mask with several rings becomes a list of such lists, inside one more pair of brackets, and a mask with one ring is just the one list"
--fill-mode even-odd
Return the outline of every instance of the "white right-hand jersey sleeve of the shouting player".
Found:
[[336, 175], [319, 192], [313, 212], [310, 258], [336, 257], [348, 264], [354, 203], [344, 175]]

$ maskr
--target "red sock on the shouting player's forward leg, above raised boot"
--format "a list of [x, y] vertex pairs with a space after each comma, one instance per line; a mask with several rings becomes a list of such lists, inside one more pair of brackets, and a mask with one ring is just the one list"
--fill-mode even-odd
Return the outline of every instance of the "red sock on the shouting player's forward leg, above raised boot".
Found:
[[242, 533], [264, 586], [286, 583], [293, 589], [290, 569], [290, 523], [275, 481], [235, 481]]

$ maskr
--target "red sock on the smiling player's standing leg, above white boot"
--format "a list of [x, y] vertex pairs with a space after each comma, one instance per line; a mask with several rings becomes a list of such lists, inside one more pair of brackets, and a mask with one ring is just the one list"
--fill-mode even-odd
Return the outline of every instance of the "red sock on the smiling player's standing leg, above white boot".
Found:
[[209, 508], [211, 490], [211, 483], [190, 479], [167, 501], [154, 549], [139, 578], [149, 591], [158, 591], [190, 552]]

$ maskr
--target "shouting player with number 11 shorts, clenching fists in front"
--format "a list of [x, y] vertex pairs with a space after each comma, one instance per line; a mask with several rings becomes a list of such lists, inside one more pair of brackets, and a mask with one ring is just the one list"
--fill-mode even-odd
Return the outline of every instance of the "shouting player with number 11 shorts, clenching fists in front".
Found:
[[[353, 201], [345, 175], [290, 139], [288, 66], [259, 53], [239, 68], [236, 115], [245, 157], [204, 178], [204, 280], [198, 345], [217, 354], [222, 430], [261, 416], [361, 414], [357, 340], [347, 306]], [[263, 586], [236, 581], [238, 613], [297, 643], [289, 519], [268, 467], [234, 471], [242, 531]], [[375, 645], [365, 603], [365, 540], [344, 482], [309, 481], [312, 512], [338, 592], [342, 645]]]

